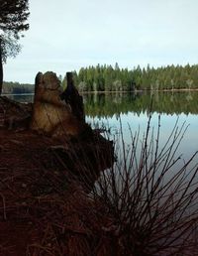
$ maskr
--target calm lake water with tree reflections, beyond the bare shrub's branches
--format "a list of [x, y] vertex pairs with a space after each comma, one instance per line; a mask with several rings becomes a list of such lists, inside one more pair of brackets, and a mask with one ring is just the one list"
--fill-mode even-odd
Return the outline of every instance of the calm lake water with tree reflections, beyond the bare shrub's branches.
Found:
[[[21, 102], [33, 102], [34, 95], [10, 95], [12, 99]], [[156, 130], [160, 115], [160, 145], [165, 143], [178, 120], [181, 127], [185, 122], [188, 129], [181, 142], [178, 153], [188, 159], [198, 150], [198, 92], [160, 92], [137, 94], [84, 94], [86, 120], [92, 125], [110, 128], [112, 136], [120, 130], [122, 123], [126, 144], [131, 143], [131, 134], [140, 131], [140, 140], [147, 129], [150, 102], [151, 124]], [[120, 122], [121, 121], [121, 122]]]

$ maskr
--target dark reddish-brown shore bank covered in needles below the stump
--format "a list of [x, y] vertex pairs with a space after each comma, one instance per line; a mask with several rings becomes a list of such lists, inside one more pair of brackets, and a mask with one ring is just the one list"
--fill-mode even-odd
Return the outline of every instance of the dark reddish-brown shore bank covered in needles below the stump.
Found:
[[75, 139], [40, 135], [28, 128], [31, 104], [0, 97], [0, 107], [0, 256], [115, 255], [104, 249], [108, 214], [89, 196], [113, 143], [91, 128]]

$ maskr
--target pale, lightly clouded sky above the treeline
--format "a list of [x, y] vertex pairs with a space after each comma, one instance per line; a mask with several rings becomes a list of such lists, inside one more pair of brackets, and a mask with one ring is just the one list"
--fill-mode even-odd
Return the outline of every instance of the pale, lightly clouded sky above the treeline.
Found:
[[96, 64], [198, 64], [198, 0], [29, 1], [30, 30], [4, 65], [6, 81]]

